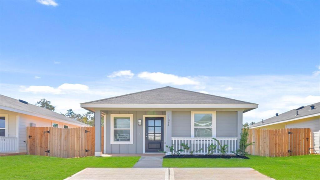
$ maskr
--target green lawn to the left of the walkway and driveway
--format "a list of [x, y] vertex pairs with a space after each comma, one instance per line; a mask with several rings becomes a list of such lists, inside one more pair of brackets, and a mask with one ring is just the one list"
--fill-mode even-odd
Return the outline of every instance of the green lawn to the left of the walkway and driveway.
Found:
[[64, 179], [84, 168], [131, 168], [140, 157], [0, 157], [0, 179]]

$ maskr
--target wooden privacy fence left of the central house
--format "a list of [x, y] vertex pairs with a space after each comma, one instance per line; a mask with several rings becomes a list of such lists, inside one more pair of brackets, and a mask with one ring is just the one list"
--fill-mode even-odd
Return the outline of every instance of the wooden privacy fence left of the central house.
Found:
[[[27, 127], [28, 154], [76, 158], [94, 155], [94, 127]], [[103, 151], [103, 127], [101, 128]]]

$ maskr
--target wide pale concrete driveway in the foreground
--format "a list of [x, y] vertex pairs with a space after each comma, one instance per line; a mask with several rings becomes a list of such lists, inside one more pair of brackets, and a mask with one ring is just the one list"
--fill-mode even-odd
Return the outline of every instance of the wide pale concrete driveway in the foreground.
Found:
[[86, 168], [68, 180], [272, 180], [252, 168]]

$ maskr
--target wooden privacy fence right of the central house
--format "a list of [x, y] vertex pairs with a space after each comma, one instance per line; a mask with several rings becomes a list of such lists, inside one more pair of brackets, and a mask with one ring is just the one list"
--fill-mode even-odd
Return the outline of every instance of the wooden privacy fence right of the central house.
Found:
[[258, 156], [298, 156], [309, 154], [310, 128], [249, 129], [247, 151]]

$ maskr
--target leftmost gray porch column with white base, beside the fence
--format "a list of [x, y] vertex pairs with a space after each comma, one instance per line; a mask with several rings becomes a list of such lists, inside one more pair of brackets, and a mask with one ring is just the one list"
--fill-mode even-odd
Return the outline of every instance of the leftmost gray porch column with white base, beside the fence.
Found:
[[94, 114], [95, 145], [94, 156], [101, 156], [101, 111], [96, 110]]

